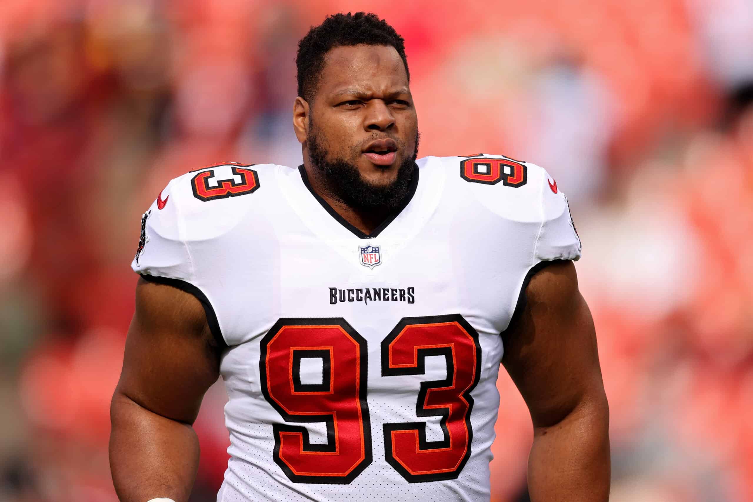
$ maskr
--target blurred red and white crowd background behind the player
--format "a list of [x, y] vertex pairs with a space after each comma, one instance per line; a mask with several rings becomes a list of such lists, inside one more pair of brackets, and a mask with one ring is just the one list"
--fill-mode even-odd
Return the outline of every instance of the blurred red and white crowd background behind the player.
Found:
[[[0, 2], [0, 500], [117, 500], [142, 211], [197, 166], [297, 166], [297, 41], [360, 10], [406, 39], [420, 156], [508, 154], [568, 194], [612, 500], [753, 500], [749, 0]], [[532, 432], [502, 374], [492, 500], [522, 502]], [[196, 424], [194, 502], [222, 479], [225, 399]]]

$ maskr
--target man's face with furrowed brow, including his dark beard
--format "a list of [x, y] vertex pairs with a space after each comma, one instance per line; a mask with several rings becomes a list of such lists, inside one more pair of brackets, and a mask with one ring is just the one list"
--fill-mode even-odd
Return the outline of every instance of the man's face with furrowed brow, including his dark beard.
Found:
[[394, 47], [336, 47], [309, 103], [309, 158], [334, 196], [351, 205], [396, 205], [413, 172], [418, 119]]

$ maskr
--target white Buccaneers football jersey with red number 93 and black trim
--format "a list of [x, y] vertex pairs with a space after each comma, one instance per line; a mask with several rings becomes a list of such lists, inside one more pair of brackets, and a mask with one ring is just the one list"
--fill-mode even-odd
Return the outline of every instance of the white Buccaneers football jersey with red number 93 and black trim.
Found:
[[417, 164], [370, 236], [302, 167], [197, 169], [142, 218], [133, 269], [193, 293], [227, 345], [218, 502], [489, 500], [500, 333], [537, 265], [581, 243], [534, 164]]

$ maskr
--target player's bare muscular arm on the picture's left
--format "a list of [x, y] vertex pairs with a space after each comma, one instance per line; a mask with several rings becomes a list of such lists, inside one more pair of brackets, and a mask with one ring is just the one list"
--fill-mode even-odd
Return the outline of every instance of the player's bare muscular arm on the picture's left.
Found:
[[139, 279], [110, 409], [110, 467], [122, 502], [188, 500], [199, 465], [191, 424], [218, 379], [219, 354], [195, 297]]

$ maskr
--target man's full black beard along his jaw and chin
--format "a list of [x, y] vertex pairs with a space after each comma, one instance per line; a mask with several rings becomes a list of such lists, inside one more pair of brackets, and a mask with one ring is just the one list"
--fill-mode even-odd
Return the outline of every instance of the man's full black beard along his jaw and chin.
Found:
[[[416, 132], [416, 149], [413, 151], [413, 156], [401, 162], [395, 181], [383, 186], [370, 184], [361, 178], [358, 166], [354, 163], [349, 163], [342, 158], [327, 160], [327, 149], [322, 145], [320, 135], [316, 130], [310, 131], [306, 143], [309, 148], [309, 160], [314, 169], [319, 172], [321, 181], [324, 181], [325, 190], [351, 208], [395, 209], [401, 205], [410, 192], [410, 181], [413, 179], [419, 151], [418, 132]], [[398, 146], [401, 145], [398, 143]], [[352, 148], [352, 153], [354, 157], [361, 155], [360, 145]]]

